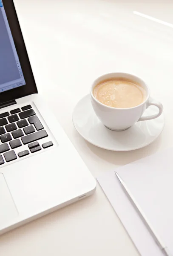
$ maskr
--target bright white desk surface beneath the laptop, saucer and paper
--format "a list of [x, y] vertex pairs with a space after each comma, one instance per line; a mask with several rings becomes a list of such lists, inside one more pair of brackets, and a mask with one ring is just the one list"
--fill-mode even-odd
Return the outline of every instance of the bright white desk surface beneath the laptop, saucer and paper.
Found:
[[[96, 177], [173, 145], [173, 1], [15, 0], [39, 93]], [[133, 14], [150, 15], [172, 25]], [[168, 26], [167, 26], [168, 25]], [[103, 73], [141, 76], [164, 105], [162, 135], [111, 152], [85, 142], [71, 113]], [[2, 256], [138, 256], [99, 185], [95, 195], [0, 236]]]

